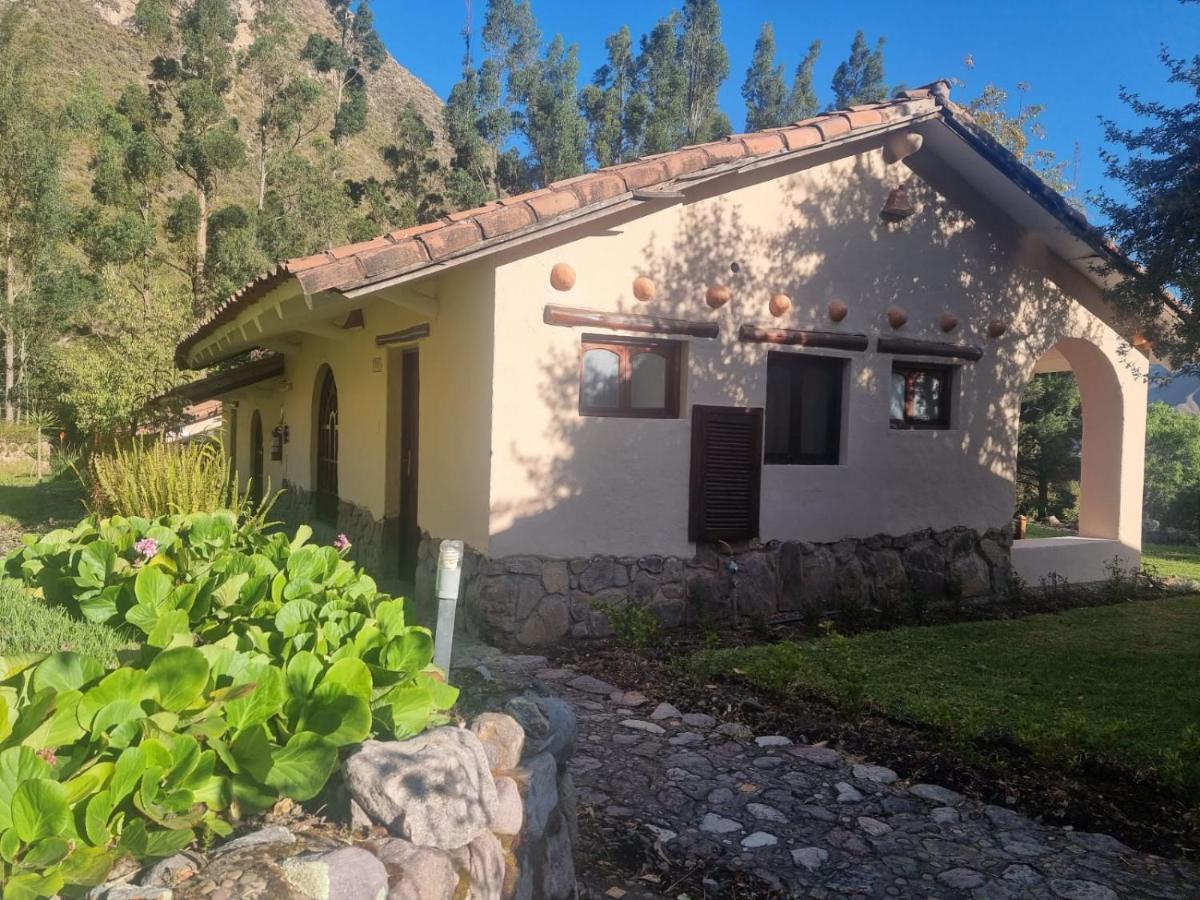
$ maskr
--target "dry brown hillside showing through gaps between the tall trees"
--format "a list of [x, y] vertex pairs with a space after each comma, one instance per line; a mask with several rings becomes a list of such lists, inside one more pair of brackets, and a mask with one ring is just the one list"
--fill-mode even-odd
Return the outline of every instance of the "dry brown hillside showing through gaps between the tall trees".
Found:
[[[58, 73], [52, 89], [61, 88], [65, 94], [85, 73], [98, 76], [101, 83], [114, 94], [128, 80], [144, 79], [154, 54], [130, 25], [136, 5], [136, 0], [36, 0], [34, 25], [44, 36], [50, 71]], [[299, 43], [311, 32], [336, 35], [324, 0], [290, 0], [290, 6], [296, 20], [298, 52]], [[241, 18], [239, 43], [245, 46], [250, 41], [247, 23], [252, 16], [252, 4], [250, 0], [234, 0], [234, 7]], [[367, 128], [346, 144], [346, 174], [355, 179], [385, 174], [379, 148], [392, 142], [396, 115], [409, 100], [416, 103], [434, 133], [443, 133], [442, 101], [428, 85], [391, 56], [378, 72], [370, 76], [370, 89]], [[246, 98], [234, 96], [230, 112], [239, 120], [246, 121], [250, 118]], [[331, 120], [332, 102], [329, 114]], [[83, 163], [84, 161], [76, 161], [76, 168]], [[82, 178], [70, 180], [82, 182]], [[238, 192], [248, 191], [251, 184], [247, 181], [246, 185], [234, 187]]]

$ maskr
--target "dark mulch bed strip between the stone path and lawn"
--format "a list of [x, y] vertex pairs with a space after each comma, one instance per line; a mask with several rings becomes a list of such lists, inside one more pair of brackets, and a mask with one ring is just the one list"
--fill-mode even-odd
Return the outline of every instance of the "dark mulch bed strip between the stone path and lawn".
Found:
[[[790, 636], [794, 632], [767, 640]], [[761, 631], [740, 631], [722, 635], [721, 644], [762, 642]], [[1087, 761], [1064, 770], [1004, 740], [956, 745], [937, 728], [871, 713], [848, 715], [811, 697], [788, 696], [781, 702], [736, 678], [701, 684], [672, 665], [672, 659], [701, 648], [698, 640], [689, 637], [668, 638], [665, 647], [644, 653], [616, 643], [574, 642], [560, 646], [553, 660], [684, 712], [745, 722], [758, 734], [827, 742], [888, 766], [901, 778], [944, 785], [1044, 823], [1109, 834], [1163, 857], [1200, 856], [1200, 809], [1163, 784]]]

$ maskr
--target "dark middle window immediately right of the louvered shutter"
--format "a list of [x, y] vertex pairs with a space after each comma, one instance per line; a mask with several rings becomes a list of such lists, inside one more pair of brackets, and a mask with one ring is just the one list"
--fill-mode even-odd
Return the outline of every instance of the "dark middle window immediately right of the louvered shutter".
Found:
[[846, 360], [767, 354], [768, 466], [836, 466]]

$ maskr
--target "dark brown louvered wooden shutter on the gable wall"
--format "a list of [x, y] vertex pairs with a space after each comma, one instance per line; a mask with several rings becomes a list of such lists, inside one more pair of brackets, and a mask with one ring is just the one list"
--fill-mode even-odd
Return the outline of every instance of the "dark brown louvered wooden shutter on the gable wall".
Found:
[[691, 408], [691, 509], [688, 540], [758, 536], [762, 409]]

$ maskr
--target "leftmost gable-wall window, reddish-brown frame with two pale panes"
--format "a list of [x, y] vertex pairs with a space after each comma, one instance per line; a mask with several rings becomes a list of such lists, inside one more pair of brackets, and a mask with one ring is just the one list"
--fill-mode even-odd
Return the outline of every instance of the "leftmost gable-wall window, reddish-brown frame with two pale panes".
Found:
[[679, 341], [583, 335], [580, 415], [679, 416]]

